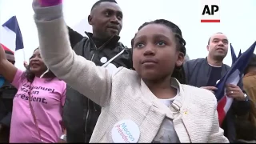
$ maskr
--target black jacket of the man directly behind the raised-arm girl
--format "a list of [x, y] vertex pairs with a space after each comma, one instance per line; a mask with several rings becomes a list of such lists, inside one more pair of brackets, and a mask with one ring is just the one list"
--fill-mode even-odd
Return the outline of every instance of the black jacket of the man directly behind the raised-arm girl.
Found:
[[[109, 60], [125, 49], [111, 63], [116, 67], [132, 68], [130, 49], [127, 49], [121, 42], [118, 42], [118, 36], [110, 38], [109, 41], [98, 48], [91, 38], [92, 34], [86, 33], [88, 38], [83, 38], [81, 34], [70, 28], [69, 33], [70, 44], [73, 46], [75, 53], [82, 55], [87, 60], [93, 61], [97, 66], [104, 64], [100, 61], [102, 57], [106, 57]], [[72, 89], [70, 86], [67, 86], [66, 102], [63, 112], [67, 142], [89, 142], [100, 113], [100, 106], [86, 98], [86, 96], [79, 94], [78, 91]]]

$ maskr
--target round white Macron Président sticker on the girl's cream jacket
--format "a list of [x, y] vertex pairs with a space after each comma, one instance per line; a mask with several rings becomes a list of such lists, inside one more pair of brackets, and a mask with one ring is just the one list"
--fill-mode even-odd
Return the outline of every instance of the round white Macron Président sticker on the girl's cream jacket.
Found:
[[136, 143], [140, 136], [138, 125], [130, 119], [117, 122], [111, 133], [114, 143]]

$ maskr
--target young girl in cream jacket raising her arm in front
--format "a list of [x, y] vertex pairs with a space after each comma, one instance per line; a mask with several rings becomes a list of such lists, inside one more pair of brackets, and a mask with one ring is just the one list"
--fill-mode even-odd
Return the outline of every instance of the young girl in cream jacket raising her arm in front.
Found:
[[62, 2], [46, 2], [33, 3], [42, 58], [58, 78], [102, 106], [90, 142], [228, 142], [214, 94], [180, 83], [186, 42], [178, 26], [163, 19], [143, 24], [131, 42], [134, 70], [110, 74], [74, 53]]

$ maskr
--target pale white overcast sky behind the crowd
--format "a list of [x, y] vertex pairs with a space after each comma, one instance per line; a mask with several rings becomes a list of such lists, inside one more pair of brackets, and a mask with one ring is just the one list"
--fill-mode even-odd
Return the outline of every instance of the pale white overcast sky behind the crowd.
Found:
[[[26, 61], [38, 46], [38, 35], [34, 25], [31, 0], [0, 0], [0, 23], [6, 22], [12, 15], [17, 15], [26, 52]], [[78, 22], [87, 18], [91, 6], [96, 0], [64, 0], [66, 23], [78, 29]], [[242, 51], [256, 40], [256, 1], [255, 0], [225, 0], [221, 1], [220, 23], [201, 23], [201, 0], [118, 0], [124, 18], [121, 32], [121, 42], [130, 47], [138, 27], [144, 22], [157, 18], [165, 18], [177, 24], [186, 40], [186, 50], [191, 59], [205, 58], [208, 38], [216, 32], [227, 35], [236, 53]], [[89, 30], [86, 19], [81, 30]], [[16, 66], [23, 69], [23, 54], [17, 52]], [[231, 63], [230, 52], [225, 58], [226, 64]]]

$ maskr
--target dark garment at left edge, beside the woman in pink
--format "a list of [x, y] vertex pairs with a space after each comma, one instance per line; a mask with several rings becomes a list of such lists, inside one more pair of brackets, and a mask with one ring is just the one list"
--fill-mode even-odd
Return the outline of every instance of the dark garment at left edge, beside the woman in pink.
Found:
[[10, 120], [13, 109], [13, 99], [17, 89], [5, 82], [0, 88], [0, 124], [3, 129], [0, 133], [0, 142], [9, 142]]

